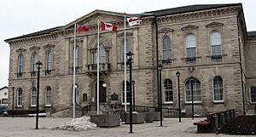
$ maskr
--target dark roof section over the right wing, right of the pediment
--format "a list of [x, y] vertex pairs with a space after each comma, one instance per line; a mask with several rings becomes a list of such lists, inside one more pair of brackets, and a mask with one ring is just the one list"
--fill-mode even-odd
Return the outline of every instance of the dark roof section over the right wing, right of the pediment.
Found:
[[236, 5], [241, 5], [241, 3], [190, 5], [190, 6], [183, 6], [183, 7], [177, 7], [172, 9], [161, 9], [161, 10], [149, 11], [143, 14], [155, 14], [156, 16], [162, 16], [166, 14], [181, 14], [181, 13], [187, 13], [192, 11], [199, 11], [199, 10], [205, 10], [205, 9], [217, 9], [217, 8], [223, 8], [223, 7], [236, 6]]

